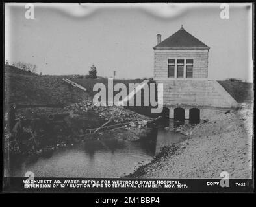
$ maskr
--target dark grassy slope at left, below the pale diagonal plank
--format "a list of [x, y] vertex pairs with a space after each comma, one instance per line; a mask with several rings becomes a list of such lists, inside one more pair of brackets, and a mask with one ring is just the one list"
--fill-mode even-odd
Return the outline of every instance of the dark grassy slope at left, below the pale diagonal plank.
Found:
[[5, 103], [57, 104], [76, 103], [88, 94], [65, 83], [61, 77], [6, 74]]

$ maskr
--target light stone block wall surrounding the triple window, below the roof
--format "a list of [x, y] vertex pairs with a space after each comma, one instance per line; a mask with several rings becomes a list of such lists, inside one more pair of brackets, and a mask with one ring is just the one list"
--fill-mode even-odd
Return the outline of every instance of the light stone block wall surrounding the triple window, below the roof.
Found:
[[208, 50], [155, 50], [154, 78], [168, 78], [168, 59], [194, 59], [193, 78], [208, 77]]

